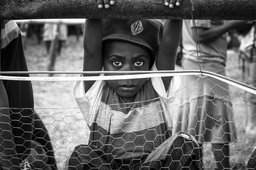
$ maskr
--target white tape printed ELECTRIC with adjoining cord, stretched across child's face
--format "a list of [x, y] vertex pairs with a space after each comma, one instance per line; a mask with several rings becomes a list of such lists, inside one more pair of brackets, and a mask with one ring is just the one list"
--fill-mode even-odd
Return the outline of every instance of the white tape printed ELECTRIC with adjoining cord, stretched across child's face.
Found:
[[[184, 76], [184, 75], [204, 75], [213, 77], [222, 82], [226, 82], [230, 85], [241, 88], [250, 93], [256, 94], [256, 88], [250, 85], [244, 84], [242, 82], [224, 77], [219, 74], [212, 73], [210, 71], [197, 71], [197, 70], [186, 70], [186, 71], [140, 71], [140, 72], [131, 72], [131, 71], [119, 71], [114, 72], [116, 74], [126, 74], [126, 75], [116, 75], [116, 76], [89, 76], [89, 77], [13, 77], [13, 76], [0, 76], [0, 79], [4, 80], [22, 80], [22, 81], [90, 81], [90, 80], [115, 80], [115, 79], [141, 79], [141, 78], [151, 78], [151, 77], [172, 77], [172, 76]], [[3, 74], [4, 72], [0, 72]], [[21, 73], [21, 72], [11, 72], [11, 73]], [[8, 72], [8, 74], [11, 74]], [[26, 74], [43, 74], [43, 73], [54, 73], [54, 74], [70, 74], [70, 72], [22, 72]], [[88, 74], [88, 72], [73, 72], [73, 74]], [[93, 72], [90, 72], [93, 73]], [[110, 71], [97, 71], [94, 73], [113, 73]], [[127, 75], [129, 73], [129, 75]], [[145, 74], [138, 74], [145, 73]]]

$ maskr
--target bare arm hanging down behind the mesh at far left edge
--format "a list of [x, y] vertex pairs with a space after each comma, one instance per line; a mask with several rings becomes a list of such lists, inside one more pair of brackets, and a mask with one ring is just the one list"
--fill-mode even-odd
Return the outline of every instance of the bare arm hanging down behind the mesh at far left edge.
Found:
[[1, 79], [0, 108], [0, 165], [3, 170], [20, 170], [9, 117], [8, 97]]

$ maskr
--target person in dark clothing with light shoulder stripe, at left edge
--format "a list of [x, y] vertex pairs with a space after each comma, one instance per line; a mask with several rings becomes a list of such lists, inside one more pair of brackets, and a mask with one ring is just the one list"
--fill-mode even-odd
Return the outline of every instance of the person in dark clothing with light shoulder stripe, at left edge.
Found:
[[[28, 71], [20, 29], [13, 20], [0, 20], [0, 49], [0, 71]], [[0, 79], [0, 108], [0, 170], [31, 169], [26, 159], [34, 121], [31, 82]]]

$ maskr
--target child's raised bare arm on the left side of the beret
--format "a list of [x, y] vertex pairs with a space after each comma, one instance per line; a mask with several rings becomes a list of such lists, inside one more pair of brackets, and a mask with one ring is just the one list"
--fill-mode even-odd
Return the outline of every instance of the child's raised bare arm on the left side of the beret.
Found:
[[[84, 26], [84, 67], [83, 71], [102, 71], [102, 19], [86, 19]], [[99, 74], [84, 74], [99, 76]], [[84, 81], [88, 91], [95, 81]]]

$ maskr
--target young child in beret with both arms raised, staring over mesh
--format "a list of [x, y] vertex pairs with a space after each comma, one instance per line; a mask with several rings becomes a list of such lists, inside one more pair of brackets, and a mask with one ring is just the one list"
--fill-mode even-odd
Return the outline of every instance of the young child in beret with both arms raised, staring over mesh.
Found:
[[[181, 28], [182, 20], [163, 26], [160, 20], [87, 19], [83, 70], [174, 70]], [[200, 159], [194, 138], [172, 136], [179, 84], [179, 77], [76, 82], [73, 95], [91, 133], [67, 169], [199, 169], [200, 161], [192, 162]]]

